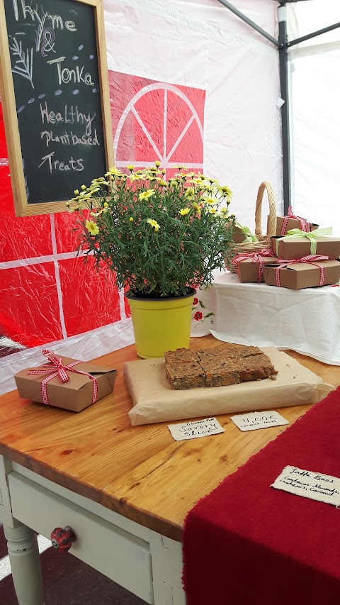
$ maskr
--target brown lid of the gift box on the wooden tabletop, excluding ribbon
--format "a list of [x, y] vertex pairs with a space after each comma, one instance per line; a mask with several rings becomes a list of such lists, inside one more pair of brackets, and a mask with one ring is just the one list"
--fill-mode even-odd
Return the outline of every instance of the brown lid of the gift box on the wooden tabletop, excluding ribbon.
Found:
[[[71, 363], [72, 361], [75, 361], [74, 359], [72, 359], [72, 357], [64, 357], [62, 355], [60, 355], [60, 357], [62, 357], [62, 363], [64, 365], [67, 365], [69, 363]], [[48, 364], [51, 367], [51, 370], [53, 370], [54, 366], [52, 364]], [[16, 374], [14, 374], [14, 378], [18, 377], [18, 378], [26, 378], [29, 379], [33, 382], [41, 382], [42, 379], [44, 379], [45, 377], [47, 377], [48, 374], [28, 374], [29, 370], [38, 370], [40, 366], [37, 367], [27, 367], [24, 370], [20, 370], [20, 372], [17, 372]], [[47, 370], [47, 368], [46, 368]], [[74, 366], [74, 370], [81, 370], [81, 372], [87, 372], [88, 374], [91, 374], [94, 377], [98, 377], [101, 376], [102, 374], [108, 374], [108, 372], [116, 372], [116, 370], [114, 368], [108, 368], [108, 367], [103, 367], [101, 365], [98, 365], [92, 361], [87, 361], [87, 362], [80, 362], [79, 364]], [[72, 370], [67, 370], [67, 373], [69, 374], [70, 380], [67, 380], [67, 382], [62, 382], [60, 377], [56, 376], [55, 378], [52, 378], [52, 380], [50, 380], [49, 384], [55, 384], [55, 385], [60, 385], [62, 386], [63, 389], [71, 389], [72, 391], [74, 390], [79, 390], [82, 389], [85, 384], [87, 384], [89, 382], [89, 377], [87, 377], [85, 374], [79, 374], [78, 372], [73, 372]], [[71, 379], [72, 378], [72, 379]]]

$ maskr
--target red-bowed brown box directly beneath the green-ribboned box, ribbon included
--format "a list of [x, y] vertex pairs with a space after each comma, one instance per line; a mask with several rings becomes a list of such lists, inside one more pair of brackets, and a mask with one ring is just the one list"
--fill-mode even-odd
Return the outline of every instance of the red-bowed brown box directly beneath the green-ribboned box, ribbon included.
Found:
[[336, 284], [340, 280], [339, 260], [326, 256], [307, 256], [295, 260], [279, 260], [276, 265], [263, 267], [264, 281], [268, 286], [300, 290], [315, 286]]

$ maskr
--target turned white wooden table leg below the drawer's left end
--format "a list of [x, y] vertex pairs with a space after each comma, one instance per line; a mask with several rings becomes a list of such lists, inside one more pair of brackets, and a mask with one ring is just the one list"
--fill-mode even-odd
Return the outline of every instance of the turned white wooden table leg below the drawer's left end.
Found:
[[43, 605], [38, 540], [25, 525], [4, 525], [14, 588], [19, 605]]

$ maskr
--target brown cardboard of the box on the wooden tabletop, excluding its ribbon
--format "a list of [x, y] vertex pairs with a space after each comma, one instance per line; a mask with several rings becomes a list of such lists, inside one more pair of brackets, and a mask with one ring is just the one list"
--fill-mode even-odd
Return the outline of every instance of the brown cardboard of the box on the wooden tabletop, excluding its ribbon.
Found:
[[[64, 357], [62, 355], [60, 357], [62, 357], [63, 365], [75, 361], [71, 357]], [[51, 370], [55, 370], [53, 365], [50, 367]], [[30, 399], [30, 401], [44, 403], [42, 400], [41, 382], [48, 374], [28, 374], [29, 370], [39, 369], [40, 366], [21, 370], [14, 375], [14, 379], [16, 380], [19, 396], [23, 397], [23, 399]], [[98, 386], [96, 401], [113, 392], [117, 370], [97, 365], [91, 361], [80, 362], [74, 366], [74, 370], [87, 372], [96, 378]], [[69, 376], [67, 382], [62, 382], [62, 379], [56, 376], [47, 383], [47, 405], [76, 412], [91, 406], [93, 394], [93, 382], [91, 378], [84, 374], [72, 372], [72, 370], [66, 370], [66, 372]]]

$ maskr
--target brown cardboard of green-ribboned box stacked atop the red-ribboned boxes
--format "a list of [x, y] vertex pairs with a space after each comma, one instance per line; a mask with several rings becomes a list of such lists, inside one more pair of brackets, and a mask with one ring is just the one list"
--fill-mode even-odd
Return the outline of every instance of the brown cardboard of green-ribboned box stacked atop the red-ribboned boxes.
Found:
[[[315, 241], [317, 251], [314, 254], [332, 258], [340, 257], [340, 238], [327, 238], [326, 235], [322, 235], [316, 238]], [[278, 242], [278, 250], [276, 249], [276, 242]], [[273, 237], [271, 238], [271, 248], [276, 256], [285, 260], [302, 258], [311, 254], [308, 238]]]

